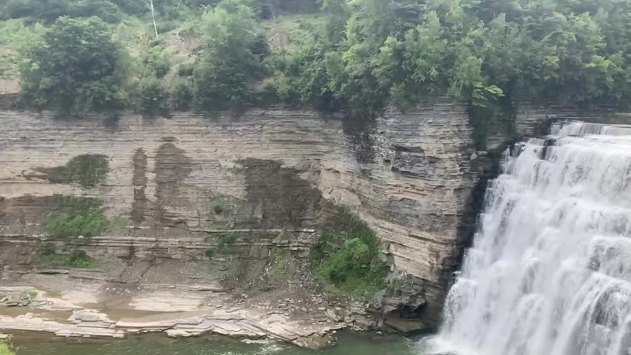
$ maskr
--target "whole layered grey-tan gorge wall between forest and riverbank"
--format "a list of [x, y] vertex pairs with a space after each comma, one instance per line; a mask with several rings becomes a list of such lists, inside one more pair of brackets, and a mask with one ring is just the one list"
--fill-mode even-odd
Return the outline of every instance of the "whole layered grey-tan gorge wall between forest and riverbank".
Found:
[[[524, 112], [528, 129], [548, 117]], [[466, 105], [450, 99], [387, 107], [369, 123], [280, 108], [169, 118], [2, 111], [0, 123], [3, 280], [36, 262], [37, 241], [50, 239], [39, 224], [58, 195], [98, 198], [124, 221], [82, 247], [114, 260], [117, 280], [208, 287], [301, 285], [315, 232], [345, 205], [415, 281], [428, 323], [439, 321], [489, 165], [473, 154]], [[57, 174], [85, 154], [108, 162], [98, 183]], [[209, 269], [204, 251], [227, 240], [232, 256]], [[289, 275], [264, 272], [278, 253], [295, 266]]]

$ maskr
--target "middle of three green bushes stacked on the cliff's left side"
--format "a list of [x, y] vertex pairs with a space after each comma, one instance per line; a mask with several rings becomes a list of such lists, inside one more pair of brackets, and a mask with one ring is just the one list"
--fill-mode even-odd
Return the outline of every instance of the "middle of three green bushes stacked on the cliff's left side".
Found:
[[54, 238], [91, 238], [108, 231], [110, 221], [94, 198], [57, 196], [57, 209], [46, 215], [42, 226]]

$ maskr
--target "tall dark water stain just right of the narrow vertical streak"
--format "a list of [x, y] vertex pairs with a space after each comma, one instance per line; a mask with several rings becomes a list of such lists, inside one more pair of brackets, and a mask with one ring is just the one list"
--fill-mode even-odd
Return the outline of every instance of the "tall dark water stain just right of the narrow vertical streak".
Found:
[[178, 186], [192, 171], [192, 162], [174, 143], [163, 143], [155, 152], [156, 209], [154, 219], [165, 222], [165, 207], [177, 205]]

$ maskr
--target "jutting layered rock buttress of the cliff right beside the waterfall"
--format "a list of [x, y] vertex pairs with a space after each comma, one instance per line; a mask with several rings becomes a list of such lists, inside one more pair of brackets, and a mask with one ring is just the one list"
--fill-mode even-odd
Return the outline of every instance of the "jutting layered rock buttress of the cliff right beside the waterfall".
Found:
[[[341, 145], [353, 141], [348, 135], [353, 132], [339, 137]], [[388, 107], [370, 135], [372, 159], [355, 159], [342, 148], [322, 160], [324, 197], [353, 206], [377, 231], [396, 268], [418, 278], [427, 302], [423, 318], [430, 323], [439, 320], [473, 222], [464, 216], [478, 179], [469, 164], [471, 137], [460, 102], [439, 100], [404, 113]]]

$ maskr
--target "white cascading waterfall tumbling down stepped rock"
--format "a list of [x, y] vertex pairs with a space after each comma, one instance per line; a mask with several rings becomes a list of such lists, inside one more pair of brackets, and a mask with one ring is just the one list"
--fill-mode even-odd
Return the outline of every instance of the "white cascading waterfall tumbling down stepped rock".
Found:
[[631, 354], [629, 129], [553, 130], [490, 184], [433, 352]]

